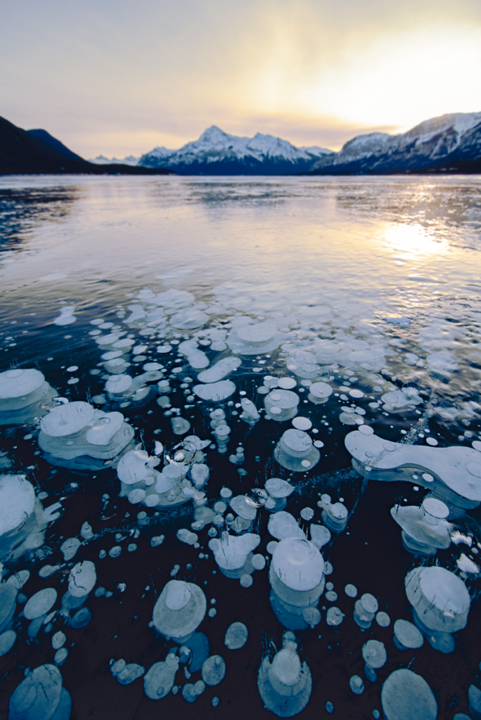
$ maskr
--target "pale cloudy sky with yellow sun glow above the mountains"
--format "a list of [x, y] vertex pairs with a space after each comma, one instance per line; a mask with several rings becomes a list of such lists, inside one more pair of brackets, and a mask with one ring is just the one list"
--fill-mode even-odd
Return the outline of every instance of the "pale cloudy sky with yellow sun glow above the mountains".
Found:
[[0, 115], [85, 158], [210, 125], [337, 150], [481, 111], [480, 0], [0, 0]]

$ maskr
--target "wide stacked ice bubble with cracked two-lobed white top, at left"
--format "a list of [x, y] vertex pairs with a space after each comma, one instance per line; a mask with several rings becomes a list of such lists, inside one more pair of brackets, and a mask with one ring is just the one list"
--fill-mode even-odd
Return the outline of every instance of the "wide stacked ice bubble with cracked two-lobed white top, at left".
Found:
[[122, 413], [104, 413], [76, 401], [59, 405], [42, 418], [38, 444], [53, 465], [101, 470], [116, 466], [133, 436]]

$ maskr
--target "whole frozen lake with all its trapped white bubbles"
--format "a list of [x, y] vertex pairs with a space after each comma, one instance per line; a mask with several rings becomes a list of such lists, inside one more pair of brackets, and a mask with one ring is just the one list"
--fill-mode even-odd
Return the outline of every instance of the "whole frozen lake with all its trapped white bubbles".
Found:
[[0, 178], [1, 714], [467, 713], [480, 251], [478, 177]]

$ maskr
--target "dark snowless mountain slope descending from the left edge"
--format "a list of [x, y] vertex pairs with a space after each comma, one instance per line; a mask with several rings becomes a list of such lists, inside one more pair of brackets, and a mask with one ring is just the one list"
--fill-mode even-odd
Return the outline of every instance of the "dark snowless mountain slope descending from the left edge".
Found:
[[22, 130], [0, 117], [0, 175], [163, 175], [170, 172], [120, 163], [95, 165], [73, 153], [46, 130]]

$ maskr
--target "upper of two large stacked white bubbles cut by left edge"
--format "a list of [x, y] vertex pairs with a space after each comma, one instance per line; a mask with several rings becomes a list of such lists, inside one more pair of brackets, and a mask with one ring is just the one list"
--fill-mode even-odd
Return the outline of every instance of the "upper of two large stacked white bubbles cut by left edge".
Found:
[[0, 426], [30, 425], [48, 412], [57, 393], [40, 370], [0, 372]]

